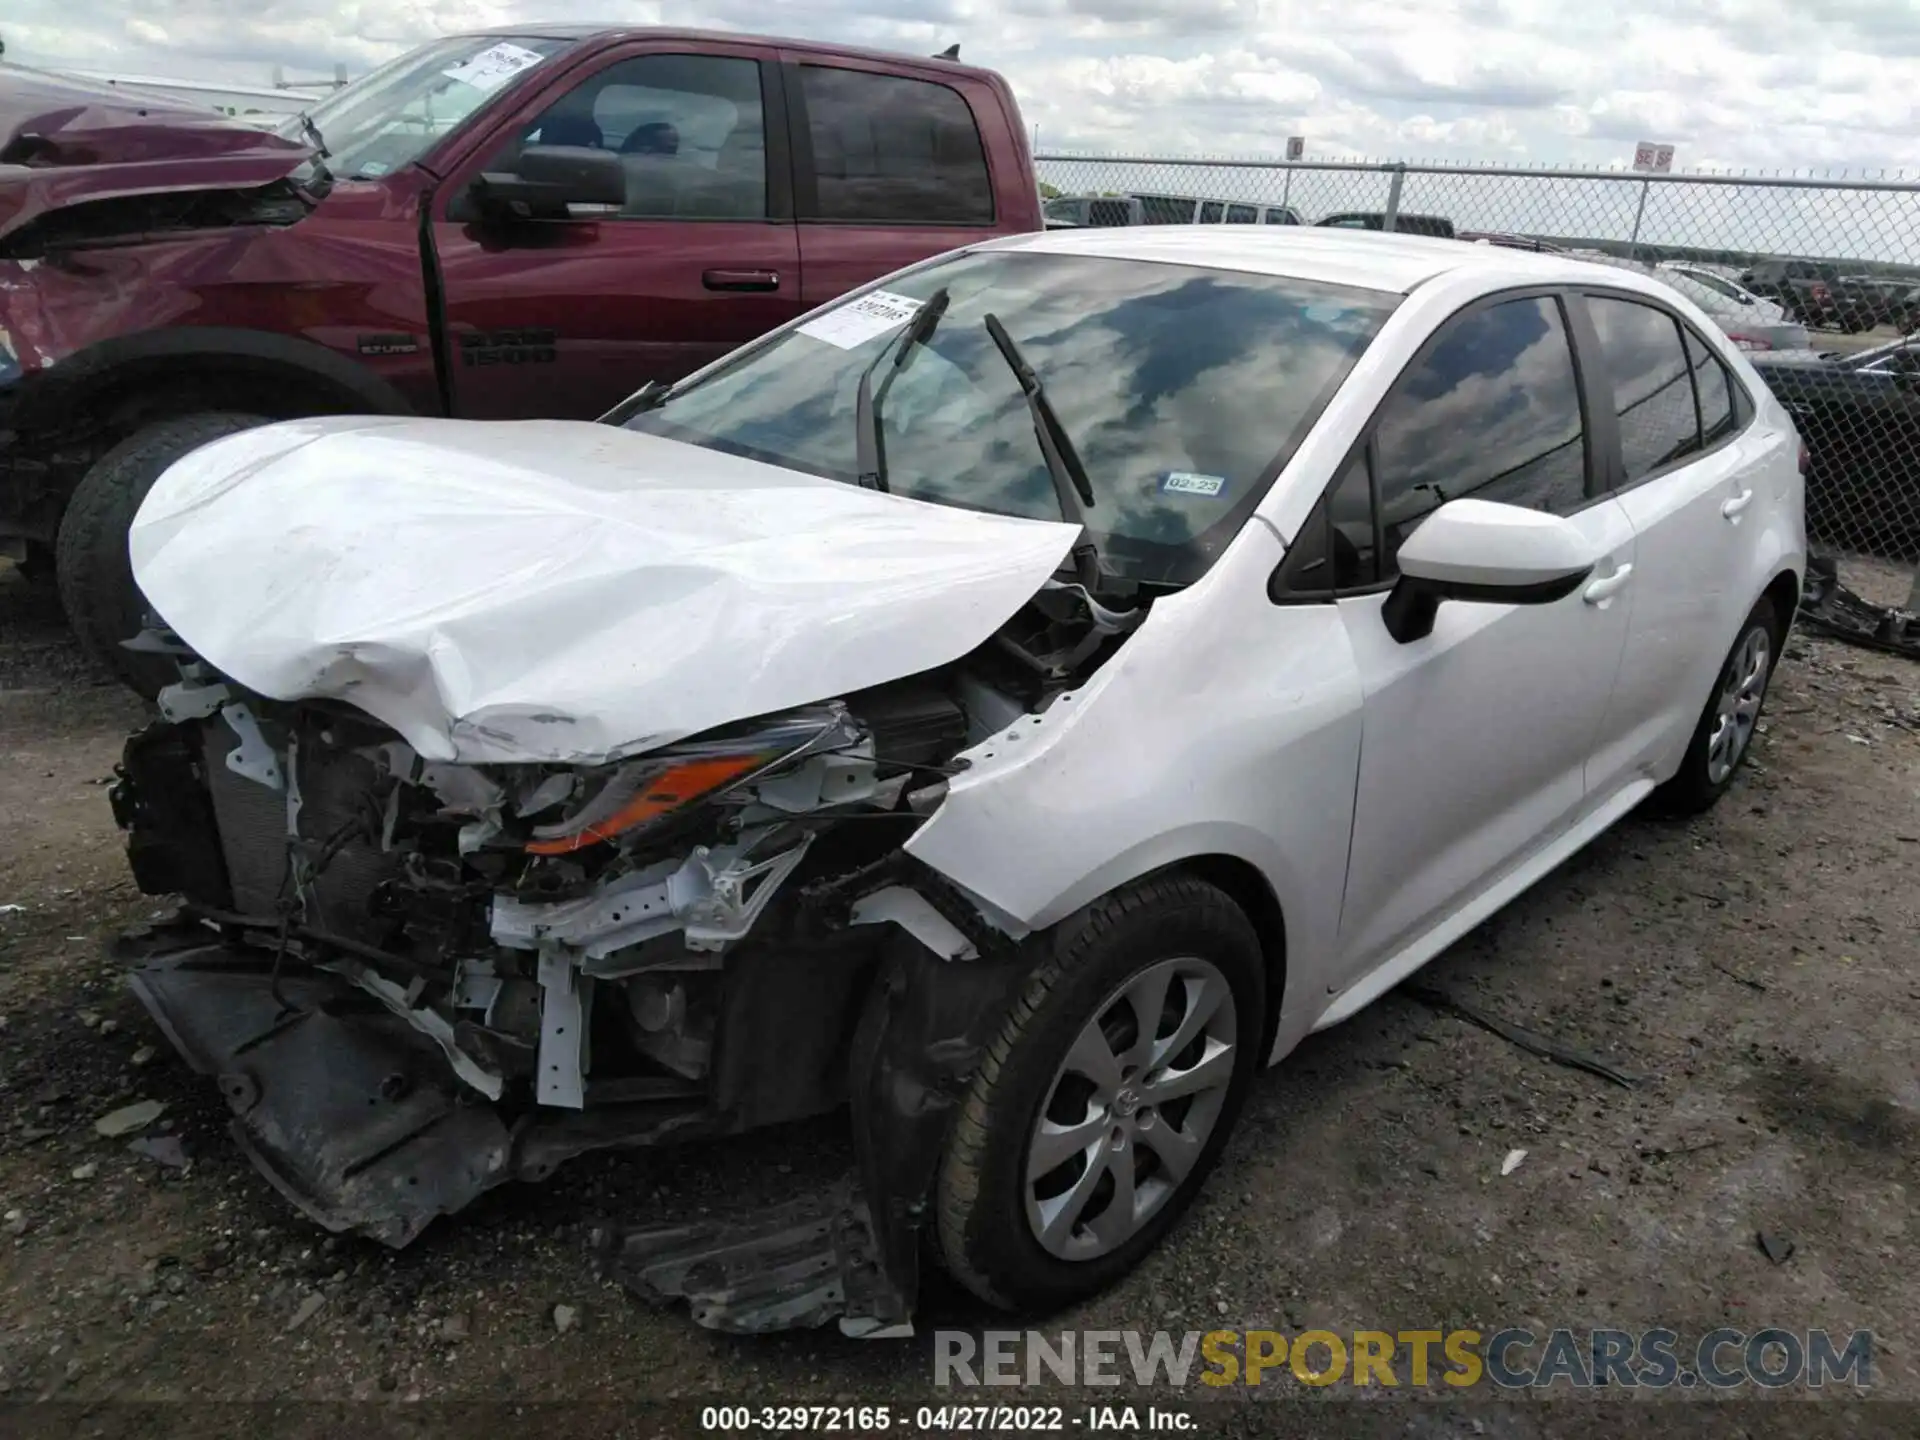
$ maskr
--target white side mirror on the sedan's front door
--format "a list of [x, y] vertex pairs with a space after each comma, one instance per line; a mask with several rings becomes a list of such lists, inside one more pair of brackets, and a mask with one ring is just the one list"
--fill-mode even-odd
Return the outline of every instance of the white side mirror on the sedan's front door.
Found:
[[1453, 499], [1400, 547], [1400, 580], [1380, 616], [1411, 645], [1432, 634], [1440, 601], [1551, 605], [1594, 572], [1580, 530], [1557, 515]]

